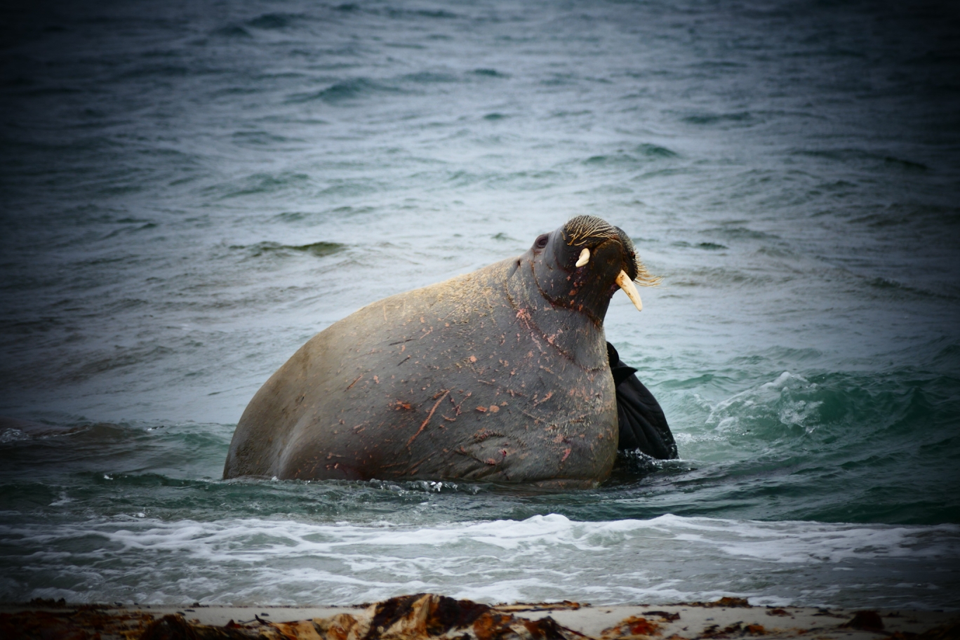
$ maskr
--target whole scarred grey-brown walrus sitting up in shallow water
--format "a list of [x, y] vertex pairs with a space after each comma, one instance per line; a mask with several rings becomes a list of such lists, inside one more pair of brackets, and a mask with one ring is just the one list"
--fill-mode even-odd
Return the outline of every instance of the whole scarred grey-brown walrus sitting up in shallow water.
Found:
[[637, 447], [675, 458], [603, 327], [618, 289], [640, 310], [635, 282], [657, 281], [623, 230], [578, 216], [520, 256], [373, 302], [256, 392], [224, 478], [590, 487], [610, 476], [624, 422]]

